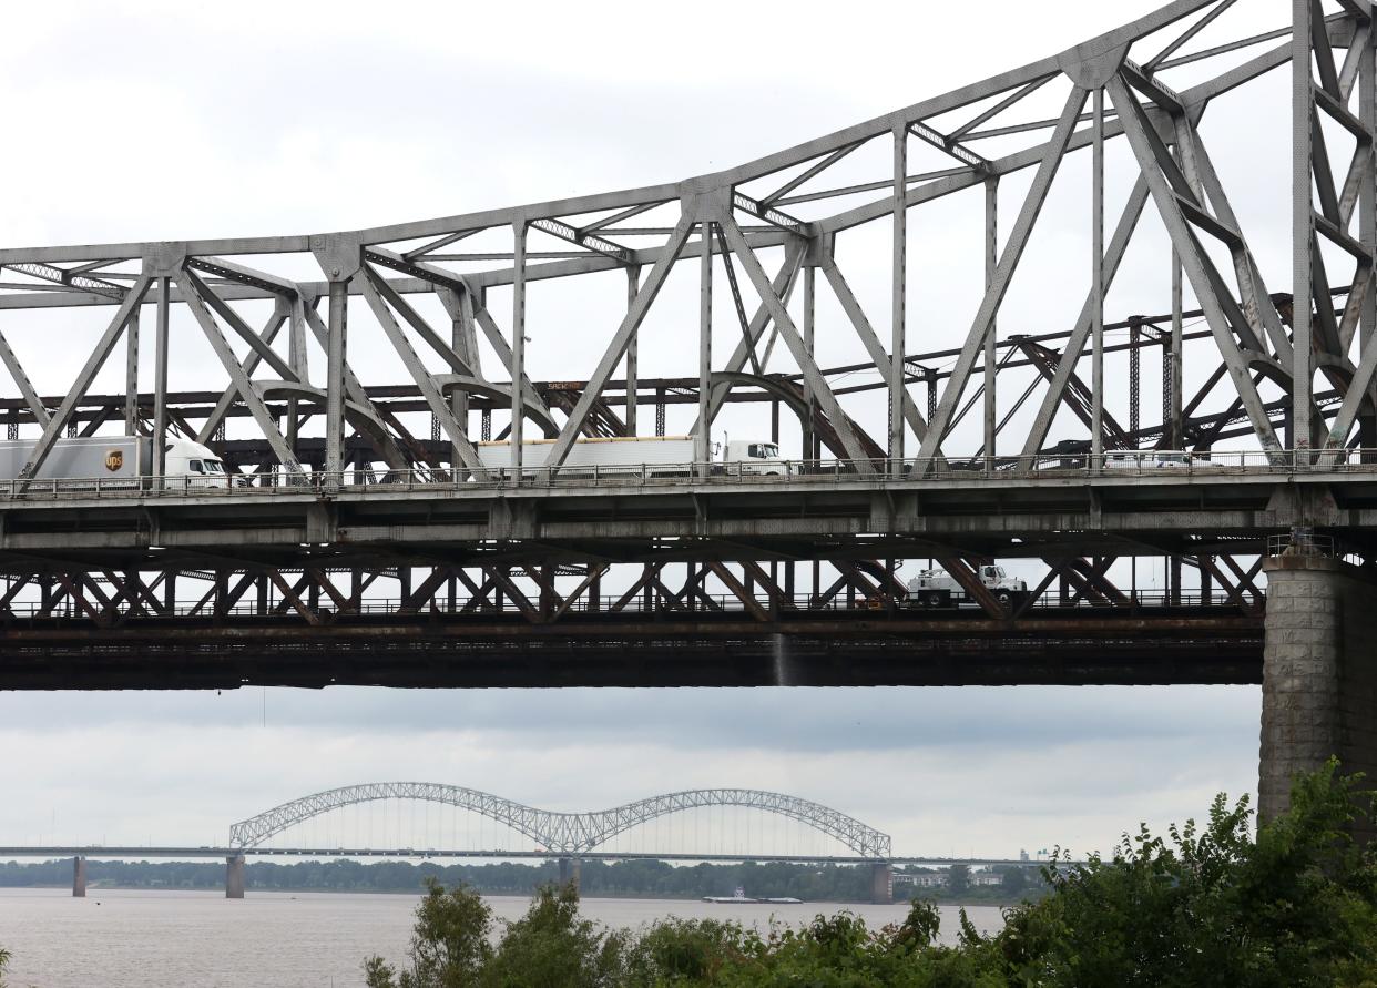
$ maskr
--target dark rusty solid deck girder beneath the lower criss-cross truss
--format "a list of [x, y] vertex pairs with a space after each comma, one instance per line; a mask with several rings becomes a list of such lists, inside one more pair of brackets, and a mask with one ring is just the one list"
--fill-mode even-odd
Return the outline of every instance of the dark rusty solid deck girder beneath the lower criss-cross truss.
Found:
[[[768, 602], [761, 602], [767, 606]], [[519, 613], [28, 616], [0, 689], [1151, 685], [1261, 681], [1263, 616], [1219, 604]]]

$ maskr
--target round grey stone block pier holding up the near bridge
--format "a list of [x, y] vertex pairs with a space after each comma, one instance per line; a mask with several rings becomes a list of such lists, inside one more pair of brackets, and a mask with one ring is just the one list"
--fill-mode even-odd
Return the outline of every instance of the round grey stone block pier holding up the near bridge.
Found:
[[[1257, 812], [1267, 820], [1290, 805], [1292, 776], [1330, 755], [1338, 757], [1344, 773], [1377, 777], [1377, 584], [1323, 555], [1283, 554], [1263, 568]], [[1371, 839], [1371, 821], [1354, 835]]]

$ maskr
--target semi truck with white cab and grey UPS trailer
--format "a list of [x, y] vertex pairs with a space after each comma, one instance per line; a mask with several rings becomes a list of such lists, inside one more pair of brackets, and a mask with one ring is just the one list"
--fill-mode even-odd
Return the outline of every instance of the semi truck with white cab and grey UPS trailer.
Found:
[[[0, 441], [0, 484], [19, 478], [33, 456], [37, 440]], [[43, 485], [56, 481], [59, 489], [136, 489], [146, 486], [153, 473], [153, 440], [142, 435], [87, 435], [62, 438], [43, 460], [32, 480]], [[168, 488], [224, 488], [231, 478], [224, 463], [200, 442], [168, 440], [162, 462]]]

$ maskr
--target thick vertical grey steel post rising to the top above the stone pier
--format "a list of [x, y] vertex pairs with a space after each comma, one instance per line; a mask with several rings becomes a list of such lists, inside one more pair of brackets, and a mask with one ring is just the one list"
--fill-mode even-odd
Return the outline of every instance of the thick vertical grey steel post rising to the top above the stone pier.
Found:
[[1311, 198], [1314, 84], [1311, 55], [1311, 0], [1292, 0], [1292, 446], [1296, 466], [1308, 466], [1311, 440], [1311, 285], [1315, 236]]

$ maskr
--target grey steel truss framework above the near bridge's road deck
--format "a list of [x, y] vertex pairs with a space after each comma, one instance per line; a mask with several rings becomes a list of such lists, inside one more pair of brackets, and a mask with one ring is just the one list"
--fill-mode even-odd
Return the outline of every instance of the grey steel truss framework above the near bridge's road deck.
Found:
[[[1018, 442], [1022, 452], [1036, 455], [1042, 449], [1056, 409], [1071, 393], [1074, 404], [1088, 401], [1086, 415], [1093, 422], [1104, 418], [1103, 372], [1096, 369], [1102, 368], [1104, 351], [1104, 298], [1147, 204], [1168, 230], [1179, 281], [1184, 280], [1191, 288], [1216, 343], [1215, 360], [1224, 371], [1215, 380], [1216, 393], [1239, 405], [1259, 446], [1281, 449], [1278, 424], [1285, 427], [1268, 412], [1268, 402], [1259, 391], [1259, 375], [1279, 389], [1289, 402], [1287, 413], [1281, 416], [1293, 431], [1286, 445], [1299, 449], [1343, 446], [1354, 438], [1355, 423], [1371, 422], [1377, 397], [1373, 387], [1377, 358], [1369, 357], [1374, 349], [1369, 342], [1377, 328], [1374, 294], [1369, 291], [1377, 251], [1371, 194], [1370, 11], [1359, 0], [1336, 6], [1333, 12], [1327, 12], [1321, 0], [1294, 0], [1289, 40], [1242, 63], [1228, 63], [1228, 52], [1274, 37], [1234, 37], [1213, 48], [1192, 50], [1201, 25], [1210, 23], [1217, 32], [1230, 18], [1239, 18], [1237, 7], [1226, 14], [1228, 7], [1220, 0], [1177, 0], [1060, 55], [741, 167], [679, 183], [343, 233], [3, 249], [0, 267], [19, 281], [0, 284], [0, 310], [114, 309], [85, 368], [55, 406], [39, 397], [23, 360], [0, 332], [0, 358], [21, 393], [22, 408], [17, 411], [26, 416], [18, 418], [43, 430], [43, 440], [28, 464], [29, 474], [40, 469], [51, 442], [78, 420], [74, 418], [77, 406], [121, 339], [128, 342], [129, 354], [136, 351], [138, 329], [150, 322], [140, 318], [146, 307], [156, 310], [158, 367], [167, 364], [168, 351], [178, 344], [178, 338], [169, 335], [169, 309], [185, 307], [212, 344], [229, 379], [215, 413], [198, 430], [202, 438], [213, 442], [227, 406], [237, 406], [253, 420], [256, 438], [266, 444], [278, 470], [296, 473], [302, 469], [295, 449], [302, 424], [296, 409], [310, 394], [321, 397], [311, 402], [315, 406], [311, 415], [324, 418], [321, 466], [326, 471], [337, 473], [348, 466], [350, 401], [357, 405], [358, 420], [370, 418], [377, 426], [365, 430], [369, 435], [364, 438], [372, 446], [375, 462], [386, 464], [380, 475], [386, 477], [387, 469], [397, 469], [402, 459], [414, 463], [424, 449], [417, 446], [414, 435], [406, 434], [399, 420], [369, 416], [369, 405], [362, 400], [348, 360], [364, 328], [359, 318], [364, 314], [372, 316], [370, 327], [380, 331], [375, 339], [406, 367], [421, 406], [434, 423], [432, 434], [438, 433], [435, 438], [448, 442], [443, 457], [424, 451], [421, 459], [435, 460], [431, 466], [437, 469], [483, 473], [470, 434], [468, 419], [475, 405], [463, 389], [445, 386], [442, 379], [450, 376], [450, 384], [464, 379], [498, 390], [505, 387], [507, 398], [501, 402], [509, 420], [505, 434], [521, 438], [523, 423], [536, 422], [541, 431], [555, 438], [551, 462], [558, 464], [577, 437], [620, 434], [636, 420], [632, 409], [638, 402], [631, 398], [636, 391], [621, 398], [627, 420], [611, 412], [613, 379], [617, 368], [635, 367], [640, 328], [671, 271], [691, 262], [700, 267], [705, 299], [698, 333], [702, 365], [697, 378], [701, 382], [712, 380], [713, 373], [737, 375], [748, 368], [756, 376], [770, 373], [771, 358], [792, 364], [777, 372], [797, 379], [808, 408], [818, 409], [830, 423], [839, 452], [862, 462], [858, 469], [874, 459], [876, 449], [883, 449], [892, 460], [914, 449], [924, 459], [956, 455], [953, 446], [964, 440], [953, 430], [963, 408], [979, 400], [985, 418], [982, 452], [994, 456], [996, 389], [1001, 375], [1009, 373], [1008, 368], [993, 365], [997, 317], [1002, 316], [1004, 325], [1011, 327], [1011, 313], [1000, 311], [1002, 300], [1018, 276], [1030, 236], [1042, 219], [1048, 190], [1062, 163], [1067, 156], [1089, 152], [1092, 174], [1099, 176], [1104, 169], [1104, 143], [1120, 138], [1132, 149], [1140, 172], [1139, 187], [1129, 197], [1120, 230], [1106, 245], [1103, 181], [1095, 182], [1099, 192], [1092, 197], [1091, 227], [1102, 260], [1086, 265], [1092, 276], [1086, 305], [1056, 371], [1048, 375], [1038, 415]], [[1220, 68], [1215, 74], [1206, 74], [1203, 81], [1188, 88], [1176, 91], [1169, 84], [1179, 66], [1192, 65], [1198, 73], [1201, 66], [1216, 63]], [[1239, 226], [1227, 185], [1216, 172], [1199, 130], [1201, 119], [1219, 96], [1286, 65], [1293, 73], [1292, 146], [1297, 161], [1292, 274], [1294, 284], [1305, 284], [1293, 295], [1319, 303], [1318, 307], [1299, 306], [1290, 327], [1283, 325], [1274, 296], [1267, 291], [1259, 252]], [[1024, 119], [1023, 114], [1031, 112], [1029, 107], [1034, 107], [1034, 96], [1055, 96], [1056, 90], [1066, 92], [1063, 112], [1056, 120]], [[1092, 107], [1089, 113], [1085, 113], [1086, 106]], [[1333, 163], [1338, 153], [1332, 136], [1334, 127], [1354, 142], [1343, 181]], [[1044, 136], [1048, 132], [1051, 135]], [[1002, 154], [978, 150], [996, 139], [1004, 139], [1005, 147], [1011, 139], [1024, 143]], [[833, 175], [843, 175], [840, 168], [858, 160], [858, 150], [881, 143], [892, 145], [896, 171], [877, 182], [829, 185]], [[916, 160], [918, 146], [935, 147], [954, 165], [910, 174], [909, 161]], [[1000, 245], [998, 183], [1024, 171], [1034, 174], [1033, 182]], [[985, 265], [987, 291], [957, 349], [954, 367], [943, 375], [945, 384], [929, 423], [910, 394], [909, 372], [891, 357], [907, 351], [905, 342], [910, 335], [903, 305], [907, 294], [905, 265], [894, 265], [891, 302], [895, 305], [887, 320], [890, 339], [884, 340], [874, 328], [880, 321], [866, 314], [866, 305], [841, 277], [837, 234], [898, 218], [903, 222], [894, 225], [895, 258], [902, 262], [907, 216], [913, 211], [982, 187], [989, 193], [987, 241], [983, 256], [972, 262]], [[1312, 187], [1318, 204], [1312, 200]], [[884, 194], [865, 198], [881, 192]], [[829, 212], [836, 203], [852, 205]], [[657, 219], [646, 226], [651, 216]], [[479, 234], [487, 240], [500, 234], [507, 240], [498, 248], [453, 252], [456, 245]], [[554, 238], [560, 249], [544, 249], [541, 238]], [[649, 247], [638, 245], [646, 241]], [[1206, 241], [1228, 254], [1232, 270], [1215, 265]], [[1338, 266], [1330, 248], [1354, 260], [1351, 278], [1334, 277]], [[784, 251], [785, 262], [771, 278], [763, 254], [777, 249]], [[292, 255], [313, 258], [322, 280], [303, 281], [273, 271], [280, 259]], [[481, 267], [492, 259], [509, 263]], [[840, 400], [837, 382], [814, 362], [817, 333], [825, 329], [815, 327], [812, 317], [818, 269], [825, 274], [823, 287], [833, 291], [858, 333], [870, 368], [884, 382], [891, 412], [888, 424], [850, 415]], [[602, 357], [577, 389], [577, 397], [573, 391], [563, 393], [567, 400], [551, 405], [548, 394], [543, 395], [532, 384], [526, 371], [526, 294], [552, 278], [609, 270], [628, 273], [627, 309], [607, 320], [614, 329], [603, 347], [592, 347]], [[801, 318], [789, 306], [800, 273], [807, 296]], [[716, 316], [706, 302], [719, 274], [726, 276], [742, 332], [726, 362], [715, 362], [712, 357]], [[1285, 284], [1275, 273], [1271, 280], [1272, 287]], [[505, 328], [487, 305], [490, 289], [512, 294]], [[1180, 295], [1176, 292], [1173, 299], [1173, 325], [1166, 339], [1176, 384], [1183, 360]], [[1334, 295], [1341, 305], [1337, 314], [1330, 314], [1327, 303]], [[438, 300], [448, 324], [432, 324], [423, 316], [412, 302], [420, 296]], [[255, 299], [277, 306], [263, 331], [251, 328], [241, 311]], [[350, 306], [350, 299], [365, 305]], [[318, 313], [322, 305], [324, 317]], [[282, 325], [289, 328], [285, 340], [278, 339]], [[336, 328], [337, 338], [333, 335]], [[325, 354], [324, 368], [313, 367], [307, 357], [313, 338]], [[497, 356], [500, 367], [482, 365], [479, 338]], [[248, 356], [238, 357], [231, 340], [235, 346], [248, 346]], [[284, 342], [285, 354], [280, 353]], [[1073, 371], [1086, 362], [1086, 357], [1091, 373], [1081, 379], [1089, 378], [1091, 384], [1077, 387]], [[291, 400], [293, 411], [285, 416], [285, 430], [281, 427], [284, 416], [269, 408], [260, 395], [263, 384], [253, 376], [264, 367], [275, 380], [306, 389], [297, 391], [303, 397]], [[1327, 408], [1314, 400], [1316, 372], [1338, 393], [1337, 401]], [[176, 419], [169, 413], [165, 375], [157, 376], [149, 427], [161, 438], [176, 427]], [[516, 389], [501, 384], [504, 376], [522, 383]], [[693, 379], [687, 373], [684, 378]], [[125, 394], [134, 395], [138, 390], [138, 364], [131, 357]], [[704, 448], [720, 402], [731, 390], [726, 382], [700, 389], [695, 433]], [[127, 402], [124, 411], [124, 429], [138, 429], [136, 405]], [[1327, 427], [1330, 420], [1333, 429]], [[801, 427], [804, 433], [811, 431], [811, 416], [804, 416]], [[1103, 430], [1092, 427], [1089, 431], [1092, 445], [1099, 448]], [[1173, 389], [1158, 435], [1184, 438], [1179, 386]], [[521, 449], [519, 442], [512, 445], [514, 459], [521, 457]]]

